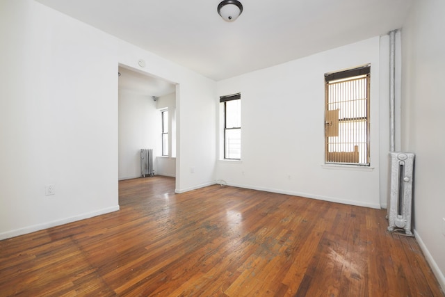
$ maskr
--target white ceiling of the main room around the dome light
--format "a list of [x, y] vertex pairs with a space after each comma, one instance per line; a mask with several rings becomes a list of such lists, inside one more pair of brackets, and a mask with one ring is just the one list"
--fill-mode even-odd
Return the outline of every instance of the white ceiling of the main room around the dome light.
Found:
[[402, 26], [414, 0], [37, 0], [216, 81]]

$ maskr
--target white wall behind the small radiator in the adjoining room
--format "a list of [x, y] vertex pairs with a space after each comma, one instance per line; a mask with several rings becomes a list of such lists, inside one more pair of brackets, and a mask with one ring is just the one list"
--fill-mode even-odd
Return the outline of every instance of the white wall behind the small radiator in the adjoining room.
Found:
[[153, 149], [153, 170], [158, 174], [156, 156], [162, 154], [161, 112], [149, 95], [119, 90], [119, 179], [140, 177], [140, 149]]

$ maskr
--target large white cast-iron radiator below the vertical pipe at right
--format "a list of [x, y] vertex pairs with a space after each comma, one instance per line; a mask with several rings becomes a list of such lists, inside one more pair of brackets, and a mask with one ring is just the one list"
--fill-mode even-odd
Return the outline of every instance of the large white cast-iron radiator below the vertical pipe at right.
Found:
[[414, 154], [390, 152], [391, 194], [388, 204], [388, 231], [411, 231], [412, 182], [414, 177]]

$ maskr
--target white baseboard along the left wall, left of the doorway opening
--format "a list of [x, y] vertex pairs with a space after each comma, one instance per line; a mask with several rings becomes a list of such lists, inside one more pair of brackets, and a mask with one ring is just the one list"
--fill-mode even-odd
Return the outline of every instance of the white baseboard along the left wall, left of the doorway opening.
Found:
[[116, 205], [114, 207], [107, 207], [106, 209], [99, 209], [97, 211], [91, 211], [86, 214], [81, 214], [79, 216], [71, 216], [70, 218], [63, 218], [61, 220], [53, 220], [51, 222], [46, 222], [46, 223], [32, 225], [32, 226], [28, 226], [28, 227], [24, 227], [24, 228], [20, 228], [20, 229], [16, 229], [16, 230], [11, 230], [8, 232], [3, 232], [3, 233], [0, 233], [0, 240], [8, 239], [8, 238], [23, 235], [23, 234], [29, 234], [31, 232], [40, 231], [40, 230], [48, 229], [51, 227], [64, 225], [67, 223], [72, 223], [72, 222], [75, 222], [76, 220], [83, 220], [85, 218], [92, 218], [93, 216], [100, 216], [102, 214], [108, 214], [110, 212], [118, 211], [118, 210], [119, 210], [119, 205]]

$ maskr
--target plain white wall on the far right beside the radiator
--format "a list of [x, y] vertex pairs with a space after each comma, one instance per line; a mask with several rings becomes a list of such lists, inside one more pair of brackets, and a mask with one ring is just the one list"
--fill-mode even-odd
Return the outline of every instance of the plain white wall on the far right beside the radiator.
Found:
[[403, 26], [403, 142], [416, 154], [414, 231], [445, 289], [445, 2], [416, 1]]

